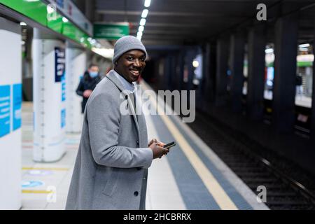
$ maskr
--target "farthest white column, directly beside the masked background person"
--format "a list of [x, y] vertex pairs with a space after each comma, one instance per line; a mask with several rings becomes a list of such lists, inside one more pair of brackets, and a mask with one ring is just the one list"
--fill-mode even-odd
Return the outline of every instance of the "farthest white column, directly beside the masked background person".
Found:
[[76, 88], [86, 67], [86, 52], [79, 48], [66, 48], [66, 132], [80, 132], [83, 124], [82, 97]]

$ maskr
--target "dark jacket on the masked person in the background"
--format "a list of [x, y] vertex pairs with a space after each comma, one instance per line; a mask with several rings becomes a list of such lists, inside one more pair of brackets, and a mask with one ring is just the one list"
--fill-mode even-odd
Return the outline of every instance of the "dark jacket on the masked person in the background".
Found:
[[[79, 83], [78, 87], [76, 88], [76, 94], [83, 97], [83, 92], [85, 90], [94, 90], [94, 88], [96, 87], [97, 83], [99, 83], [100, 80], [101, 80], [101, 78], [99, 76], [97, 76], [95, 78], [91, 78], [89, 72], [85, 71], [83, 78], [81, 78], [80, 83]], [[83, 97], [83, 101], [81, 103], [81, 107], [82, 107], [81, 112], [82, 113], [84, 113], [87, 99], [89, 99], [89, 98]]]

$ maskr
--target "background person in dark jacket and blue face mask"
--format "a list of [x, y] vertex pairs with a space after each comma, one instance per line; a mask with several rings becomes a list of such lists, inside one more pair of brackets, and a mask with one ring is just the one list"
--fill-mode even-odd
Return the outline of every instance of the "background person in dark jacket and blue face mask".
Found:
[[83, 78], [80, 79], [78, 87], [76, 88], [76, 94], [83, 97], [83, 101], [81, 103], [81, 113], [84, 113], [87, 99], [89, 99], [90, 94], [100, 80], [101, 77], [99, 76], [99, 66], [96, 64], [90, 64], [87, 71], [85, 71]]

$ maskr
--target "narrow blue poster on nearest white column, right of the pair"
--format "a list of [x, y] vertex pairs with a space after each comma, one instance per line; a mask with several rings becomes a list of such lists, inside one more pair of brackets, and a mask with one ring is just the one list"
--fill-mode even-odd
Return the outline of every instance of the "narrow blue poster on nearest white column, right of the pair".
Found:
[[13, 130], [21, 127], [22, 84], [13, 85]]

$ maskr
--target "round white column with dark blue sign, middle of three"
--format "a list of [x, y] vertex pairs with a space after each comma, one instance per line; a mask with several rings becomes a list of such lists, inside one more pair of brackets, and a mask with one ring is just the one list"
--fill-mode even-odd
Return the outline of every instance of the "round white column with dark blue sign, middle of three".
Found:
[[64, 43], [42, 38], [34, 29], [33, 99], [36, 162], [54, 162], [65, 153], [65, 52]]

